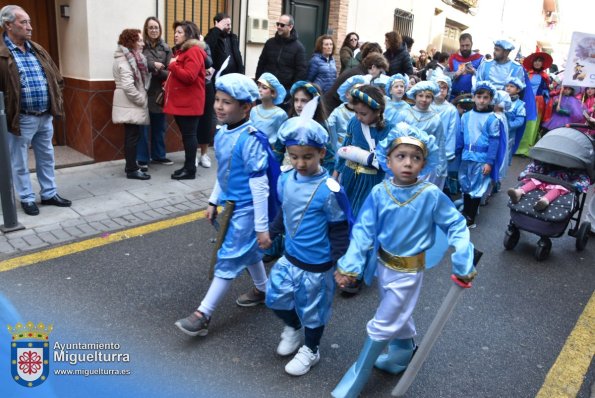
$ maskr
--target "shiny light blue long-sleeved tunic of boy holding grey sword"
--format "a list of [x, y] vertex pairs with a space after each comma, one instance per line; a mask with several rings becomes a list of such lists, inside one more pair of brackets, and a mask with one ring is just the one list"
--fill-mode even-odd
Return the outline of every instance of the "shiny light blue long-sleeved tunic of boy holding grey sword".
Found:
[[[404, 204], [415, 194], [418, 195]], [[339, 259], [337, 268], [357, 275], [365, 269], [365, 280], [370, 284], [379, 247], [393, 255], [417, 255], [434, 246], [436, 227], [447, 234], [448, 244], [455, 248], [451, 255], [453, 273], [470, 274], [474, 270], [473, 244], [469, 241], [465, 218], [451, 200], [429, 182], [399, 187], [385, 180], [376, 185], [366, 199], [353, 227], [349, 249]], [[374, 253], [370, 253], [370, 247], [374, 248]], [[426, 268], [436, 262], [436, 258], [426, 258]]]

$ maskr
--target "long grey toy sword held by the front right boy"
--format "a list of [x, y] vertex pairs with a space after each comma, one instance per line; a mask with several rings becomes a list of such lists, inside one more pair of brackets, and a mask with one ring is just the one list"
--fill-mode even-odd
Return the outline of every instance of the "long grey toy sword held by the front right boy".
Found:
[[[479, 262], [479, 259], [482, 255], [483, 252], [473, 249], [473, 265], [477, 266], [477, 263]], [[403, 373], [403, 376], [393, 389], [393, 397], [402, 397], [405, 395], [413, 383], [413, 380], [415, 380], [415, 376], [417, 376], [417, 372], [419, 372], [421, 365], [423, 365], [426, 358], [428, 357], [428, 354], [438, 339], [440, 332], [442, 332], [442, 329], [444, 329], [446, 321], [448, 321], [448, 318], [450, 317], [450, 314], [452, 314], [459, 297], [461, 297], [461, 293], [463, 293], [465, 289], [471, 287], [471, 283], [465, 283], [454, 275], [451, 275], [450, 278], [454, 282], [454, 285], [452, 285], [448, 291], [446, 298], [438, 309], [436, 317], [434, 317], [434, 320], [430, 324], [428, 331], [424, 335], [419, 348], [417, 351], [415, 351], [413, 358], [411, 358], [411, 362], [407, 366], [405, 373]]]

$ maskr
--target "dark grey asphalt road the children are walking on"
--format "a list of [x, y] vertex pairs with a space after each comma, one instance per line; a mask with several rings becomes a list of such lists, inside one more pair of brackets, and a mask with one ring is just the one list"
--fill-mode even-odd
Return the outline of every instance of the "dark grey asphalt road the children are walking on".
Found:
[[[593, 294], [595, 239], [580, 253], [573, 238], [554, 239], [544, 262], [535, 261], [537, 237], [528, 233], [522, 233], [514, 250], [505, 251], [506, 201], [505, 193], [499, 193], [481, 208], [479, 227], [472, 231], [484, 251], [479, 276], [464, 292], [407, 396], [535, 396]], [[0, 292], [23, 322], [54, 324], [52, 344], [117, 343], [118, 352], [130, 355], [128, 363], [106, 365], [130, 369], [129, 376], [51, 375], [47, 384], [56, 396], [77, 396], [73, 386], [92, 396], [330, 396], [359, 353], [377, 304], [375, 287], [353, 298], [337, 294], [320, 363], [305, 376], [291, 377], [283, 370], [288, 359], [275, 354], [281, 321], [264, 306], [234, 303], [250, 287], [247, 274], [221, 302], [207, 337], [189, 338], [174, 327], [209, 286], [212, 237], [212, 227], [198, 221], [0, 274]], [[446, 260], [426, 272], [414, 315], [418, 342], [450, 286]], [[4, 326], [0, 330], [6, 333]], [[5, 337], [0, 334], [0, 351], [8, 346]], [[591, 394], [594, 368], [592, 361], [581, 398]], [[362, 396], [388, 397], [397, 380], [374, 371]], [[33, 390], [43, 388], [14, 389], [10, 383], [10, 374], [3, 372], [0, 390], [5, 393], [0, 395], [39, 396]], [[7, 386], [13, 395], [5, 395]]]

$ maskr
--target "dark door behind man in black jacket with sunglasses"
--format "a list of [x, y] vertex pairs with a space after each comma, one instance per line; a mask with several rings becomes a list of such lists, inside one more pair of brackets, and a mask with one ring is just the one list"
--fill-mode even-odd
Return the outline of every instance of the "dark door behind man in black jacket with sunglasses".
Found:
[[328, 26], [327, 1], [285, 1], [283, 5], [284, 12], [293, 15], [298, 37], [306, 47], [306, 59], [310, 60], [316, 38], [326, 33]]

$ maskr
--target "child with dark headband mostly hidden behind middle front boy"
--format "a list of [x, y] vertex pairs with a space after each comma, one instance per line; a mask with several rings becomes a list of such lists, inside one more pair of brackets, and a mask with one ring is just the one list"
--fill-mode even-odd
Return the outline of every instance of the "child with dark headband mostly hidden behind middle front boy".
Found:
[[[306, 104], [312, 101], [316, 97], [322, 95], [320, 87], [317, 85], [307, 82], [305, 80], [299, 80], [295, 82], [289, 89], [291, 95], [291, 106], [288, 112], [289, 117], [299, 116], [302, 113], [302, 109]], [[328, 112], [322, 101], [318, 101], [316, 112], [314, 113], [314, 120], [316, 120], [322, 127], [328, 131], [326, 120], [328, 119]], [[287, 160], [284, 162], [285, 146], [277, 140], [274, 145], [275, 156], [279, 163], [287, 164]], [[322, 166], [332, 173], [335, 169], [335, 150], [332, 148], [330, 141], [326, 144], [326, 155], [322, 161]]]

